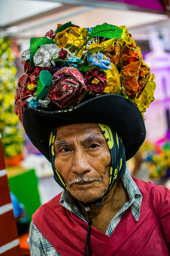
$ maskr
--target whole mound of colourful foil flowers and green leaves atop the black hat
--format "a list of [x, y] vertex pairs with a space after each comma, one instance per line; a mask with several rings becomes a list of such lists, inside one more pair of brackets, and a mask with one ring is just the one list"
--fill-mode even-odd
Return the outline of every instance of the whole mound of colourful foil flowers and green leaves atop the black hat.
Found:
[[[154, 99], [154, 75], [150, 76], [125, 26], [58, 24], [56, 33], [49, 30], [44, 37], [31, 38], [22, 64], [25, 74], [18, 82], [14, 104], [21, 122], [29, 97], [34, 98], [30, 107], [40, 104], [53, 110], [79, 104], [85, 94], [86, 98], [119, 94], [134, 102], [141, 113]], [[47, 74], [49, 81], [40, 73]]]

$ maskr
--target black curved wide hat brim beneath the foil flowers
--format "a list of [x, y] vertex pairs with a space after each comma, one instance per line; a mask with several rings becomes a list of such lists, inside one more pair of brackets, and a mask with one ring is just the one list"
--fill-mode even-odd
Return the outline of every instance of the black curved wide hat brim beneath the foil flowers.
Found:
[[137, 152], [145, 140], [145, 123], [137, 106], [123, 96], [108, 94], [87, 100], [75, 107], [57, 111], [26, 108], [23, 125], [31, 142], [50, 161], [49, 134], [63, 125], [103, 123], [120, 135], [126, 160]]

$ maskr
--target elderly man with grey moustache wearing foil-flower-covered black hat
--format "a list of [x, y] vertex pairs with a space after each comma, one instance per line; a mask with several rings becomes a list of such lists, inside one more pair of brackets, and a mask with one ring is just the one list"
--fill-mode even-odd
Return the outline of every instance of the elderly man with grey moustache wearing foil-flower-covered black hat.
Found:
[[[89, 36], [87, 29], [70, 23], [70, 27], [63, 26], [53, 37], [60, 48], [67, 46], [58, 51], [57, 61], [54, 46], [55, 54], [50, 61], [55, 70], [43, 59], [48, 59], [46, 51], [51, 46], [44, 45], [43, 39], [33, 57], [37, 39], [30, 45], [30, 65], [34, 61], [35, 69], [29, 71], [26, 65], [26, 75], [33, 72], [30, 80], [34, 83], [38, 77], [36, 98], [28, 77], [20, 78], [16, 92], [15, 112], [22, 121], [20, 113], [24, 111], [27, 135], [50, 160], [54, 179], [64, 189], [33, 214], [31, 255], [169, 255], [170, 191], [126, 173], [126, 160], [145, 140], [145, 124], [138, 107], [144, 106], [148, 98], [153, 100], [145, 90], [151, 90], [153, 76], [150, 77], [148, 66], [125, 28], [120, 31], [113, 25], [99, 25], [94, 30], [88, 28]], [[82, 30], [89, 36], [87, 40], [84, 35], [75, 39], [75, 31], [81, 34]], [[79, 48], [76, 46], [76, 52], [68, 41], [61, 44], [66, 34], [67, 40], [71, 40], [69, 33], [74, 34], [73, 45], [75, 40], [85, 40]], [[52, 38], [52, 32], [48, 36]], [[121, 54], [115, 62], [120, 46]], [[22, 57], [27, 61], [24, 54]], [[120, 69], [122, 63], [126, 65]], [[44, 84], [40, 67], [45, 67], [47, 73], [55, 71], [46, 91], [48, 100], [44, 89], [48, 79]], [[25, 89], [30, 92], [25, 94]], [[22, 96], [18, 100], [19, 93]]]

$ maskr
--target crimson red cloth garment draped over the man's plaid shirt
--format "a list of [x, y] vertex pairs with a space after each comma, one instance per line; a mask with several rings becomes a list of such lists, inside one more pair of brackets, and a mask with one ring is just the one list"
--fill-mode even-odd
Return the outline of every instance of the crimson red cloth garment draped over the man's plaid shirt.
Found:
[[[170, 190], [133, 179], [143, 196], [139, 220], [134, 219], [129, 208], [111, 237], [92, 227], [94, 256], [169, 255]], [[33, 222], [62, 256], [82, 256], [88, 224], [62, 207], [60, 197], [61, 194], [39, 207]]]

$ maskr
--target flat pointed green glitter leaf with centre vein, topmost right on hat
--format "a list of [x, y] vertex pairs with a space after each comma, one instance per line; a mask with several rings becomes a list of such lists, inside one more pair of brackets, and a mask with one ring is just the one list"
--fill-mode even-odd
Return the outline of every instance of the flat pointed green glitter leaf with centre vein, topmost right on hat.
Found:
[[111, 25], [111, 24], [102, 24], [95, 26], [91, 33], [89, 38], [95, 37], [95, 36], [102, 36], [105, 38], [120, 38], [122, 36], [123, 30], [117, 26]]

